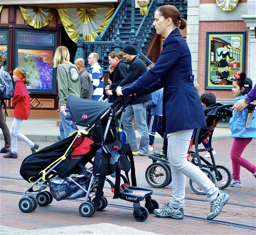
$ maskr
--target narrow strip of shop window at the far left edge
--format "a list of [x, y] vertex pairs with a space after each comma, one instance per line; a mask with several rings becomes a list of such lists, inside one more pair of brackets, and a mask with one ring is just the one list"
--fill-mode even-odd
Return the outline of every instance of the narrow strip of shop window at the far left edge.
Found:
[[0, 29], [0, 69], [8, 71], [8, 29]]

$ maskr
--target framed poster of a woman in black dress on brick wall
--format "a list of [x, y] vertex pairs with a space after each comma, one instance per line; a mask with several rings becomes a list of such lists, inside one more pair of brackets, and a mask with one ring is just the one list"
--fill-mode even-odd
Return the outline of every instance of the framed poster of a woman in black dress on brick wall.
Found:
[[231, 90], [237, 71], [244, 72], [246, 32], [207, 32], [205, 89]]

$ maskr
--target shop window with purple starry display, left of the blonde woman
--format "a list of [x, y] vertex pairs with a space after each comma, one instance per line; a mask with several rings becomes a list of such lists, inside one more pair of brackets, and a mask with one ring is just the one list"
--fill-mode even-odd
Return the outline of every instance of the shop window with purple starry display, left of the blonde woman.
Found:
[[56, 32], [15, 30], [15, 67], [23, 67], [31, 93], [55, 93], [56, 76], [52, 68]]

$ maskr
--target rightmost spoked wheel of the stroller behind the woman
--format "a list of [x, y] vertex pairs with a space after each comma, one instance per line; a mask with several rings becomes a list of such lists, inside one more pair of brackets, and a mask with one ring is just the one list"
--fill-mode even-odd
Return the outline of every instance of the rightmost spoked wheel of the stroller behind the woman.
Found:
[[229, 186], [231, 183], [232, 174], [229, 168], [227, 168], [224, 165], [216, 165], [216, 168], [218, 171], [218, 180], [216, 179], [215, 171], [213, 169], [210, 170], [212, 171], [212, 174], [215, 176], [215, 179], [216, 179], [215, 185], [220, 189], [226, 189], [227, 186]]

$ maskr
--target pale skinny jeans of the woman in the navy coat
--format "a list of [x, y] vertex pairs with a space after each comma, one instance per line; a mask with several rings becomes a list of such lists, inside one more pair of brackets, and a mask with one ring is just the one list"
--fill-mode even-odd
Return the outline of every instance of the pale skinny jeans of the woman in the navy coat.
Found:
[[172, 171], [172, 200], [175, 207], [183, 206], [185, 198], [186, 176], [197, 183], [212, 202], [218, 195], [218, 188], [191, 162], [187, 161], [189, 143], [193, 130], [182, 131], [168, 137], [168, 159]]

